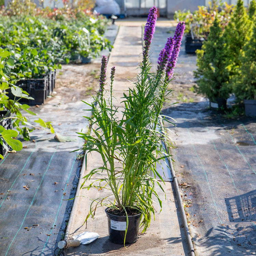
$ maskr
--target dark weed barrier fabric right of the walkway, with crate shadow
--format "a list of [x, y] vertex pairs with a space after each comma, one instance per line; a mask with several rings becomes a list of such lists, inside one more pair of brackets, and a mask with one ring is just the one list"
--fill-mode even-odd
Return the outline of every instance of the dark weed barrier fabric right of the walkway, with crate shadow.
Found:
[[191, 186], [182, 189], [182, 195], [197, 253], [254, 255], [256, 120], [219, 118], [201, 112], [202, 104], [191, 104], [189, 110], [182, 103], [169, 111], [180, 136], [174, 169]]

